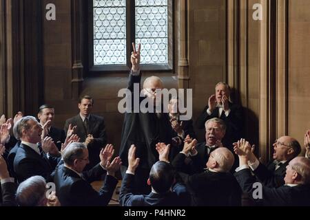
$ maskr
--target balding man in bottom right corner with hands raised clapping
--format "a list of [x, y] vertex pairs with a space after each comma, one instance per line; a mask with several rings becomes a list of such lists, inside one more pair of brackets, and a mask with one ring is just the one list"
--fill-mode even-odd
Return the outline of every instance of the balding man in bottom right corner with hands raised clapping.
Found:
[[[251, 147], [245, 140], [235, 146], [240, 166], [235, 177], [243, 192], [249, 193], [254, 201], [263, 206], [310, 206], [310, 160], [304, 157], [295, 157], [287, 165], [284, 178], [285, 185], [270, 188], [259, 185], [251, 175], [248, 165], [248, 152]], [[254, 185], [256, 184], [256, 186]]]

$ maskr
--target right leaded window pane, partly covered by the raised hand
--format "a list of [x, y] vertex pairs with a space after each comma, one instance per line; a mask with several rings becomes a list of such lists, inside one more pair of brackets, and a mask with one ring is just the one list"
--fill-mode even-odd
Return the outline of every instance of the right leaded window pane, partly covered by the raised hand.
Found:
[[136, 0], [136, 43], [141, 64], [168, 63], [167, 0]]

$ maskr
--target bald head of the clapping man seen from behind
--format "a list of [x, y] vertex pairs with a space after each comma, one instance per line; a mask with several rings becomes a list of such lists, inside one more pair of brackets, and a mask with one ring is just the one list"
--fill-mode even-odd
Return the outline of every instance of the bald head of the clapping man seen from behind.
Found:
[[231, 170], [234, 161], [233, 153], [225, 147], [220, 147], [210, 153], [207, 167], [218, 172], [227, 173]]

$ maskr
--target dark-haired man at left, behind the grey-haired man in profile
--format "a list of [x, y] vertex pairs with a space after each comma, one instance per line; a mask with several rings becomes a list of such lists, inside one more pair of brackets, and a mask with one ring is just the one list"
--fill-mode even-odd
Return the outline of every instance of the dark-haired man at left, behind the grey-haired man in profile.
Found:
[[[43, 104], [41, 105], [41, 107], [39, 107], [38, 118], [41, 126], [43, 126], [44, 129], [43, 135], [44, 137], [45, 136], [52, 137], [54, 144], [56, 144], [59, 151], [61, 151], [61, 144], [65, 142], [66, 135], [63, 129], [58, 129], [55, 126], [53, 126], [54, 115], [55, 115], [54, 107], [48, 104]], [[48, 122], [48, 124], [45, 124], [46, 122]]]

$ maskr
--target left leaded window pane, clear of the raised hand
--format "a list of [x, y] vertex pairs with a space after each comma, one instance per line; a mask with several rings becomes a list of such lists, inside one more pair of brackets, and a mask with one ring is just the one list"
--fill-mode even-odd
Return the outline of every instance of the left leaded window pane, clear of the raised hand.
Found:
[[94, 0], [94, 65], [126, 64], [125, 0]]

